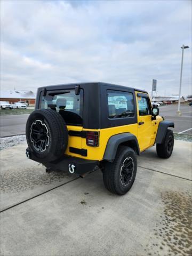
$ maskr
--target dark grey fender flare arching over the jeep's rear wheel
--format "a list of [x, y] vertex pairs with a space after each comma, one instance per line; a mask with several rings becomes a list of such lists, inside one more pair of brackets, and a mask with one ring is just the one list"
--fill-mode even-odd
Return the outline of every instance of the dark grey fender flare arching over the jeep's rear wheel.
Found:
[[115, 159], [116, 153], [117, 153], [117, 148], [121, 143], [126, 143], [127, 146], [132, 146], [132, 148], [136, 151], [138, 155], [140, 155], [140, 149], [139, 149], [139, 144], [137, 137], [133, 135], [132, 133], [125, 132], [125, 133], [119, 133], [116, 135], [113, 135], [109, 138], [107, 142], [107, 147], [105, 150], [105, 154], [103, 156], [103, 160], [107, 161], [113, 161]]

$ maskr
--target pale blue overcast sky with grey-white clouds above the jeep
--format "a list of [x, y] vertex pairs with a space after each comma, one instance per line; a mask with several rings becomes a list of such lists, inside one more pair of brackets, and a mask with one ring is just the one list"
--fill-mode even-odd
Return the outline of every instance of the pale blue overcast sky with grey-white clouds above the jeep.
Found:
[[191, 93], [191, 1], [3, 1], [1, 89], [102, 81]]

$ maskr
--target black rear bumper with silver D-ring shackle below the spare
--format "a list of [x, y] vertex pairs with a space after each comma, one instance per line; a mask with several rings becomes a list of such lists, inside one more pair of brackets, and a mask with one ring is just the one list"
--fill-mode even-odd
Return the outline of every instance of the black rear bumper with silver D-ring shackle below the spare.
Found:
[[87, 160], [83, 158], [71, 157], [64, 155], [62, 158], [54, 162], [44, 162], [43, 159], [35, 157], [29, 150], [26, 149], [26, 155], [29, 159], [38, 163], [42, 163], [47, 168], [54, 170], [65, 171], [71, 174], [82, 175], [91, 172], [94, 167], [99, 163], [98, 161]]

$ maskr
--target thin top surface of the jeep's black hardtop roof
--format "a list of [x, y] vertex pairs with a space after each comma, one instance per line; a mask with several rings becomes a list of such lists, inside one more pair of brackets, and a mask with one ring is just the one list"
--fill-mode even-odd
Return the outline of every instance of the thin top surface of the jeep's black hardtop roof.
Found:
[[84, 86], [89, 86], [89, 85], [104, 85], [104, 86], [114, 86], [114, 87], [118, 87], [119, 89], [131, 89], [134, 91], [139, 91], [139, 92], [143, 92], [143, 93], [148, 93], [146, 91], [140, 90], [140, 89], [135, 89], [133, 87], [129, 87], [129, 86], [123, 86], [123, 85], [118, 85], [118, 84], [111, 84], [111, 83], [105, 83], [105, 82], [81, 82], [81, 83], [67, 83], [67, 84], [55, 84], [55, 85], [48, 85], [48, 86], [42, 86], [39, 87], [38, 89], [43, 89], [46, 88], [47, 90], [51, 89], [53, 90], [54, 87], [57, 87], [57, 89], [61, 89], [62, 86], [70, 86], [70, 85], [84, 85]]

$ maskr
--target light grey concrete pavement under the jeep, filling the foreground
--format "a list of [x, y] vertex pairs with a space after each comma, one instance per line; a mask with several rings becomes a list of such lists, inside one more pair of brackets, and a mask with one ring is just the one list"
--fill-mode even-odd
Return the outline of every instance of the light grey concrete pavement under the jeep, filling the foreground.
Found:
[[[182, 148], [182, 159], [181, 159]], [[138, 157], [132, 189], [116, 196], [100, 170], [47, 174], [26, 145], [1, 151], [1, 255], [191, 255], [191, 143], [169, 159]]]

